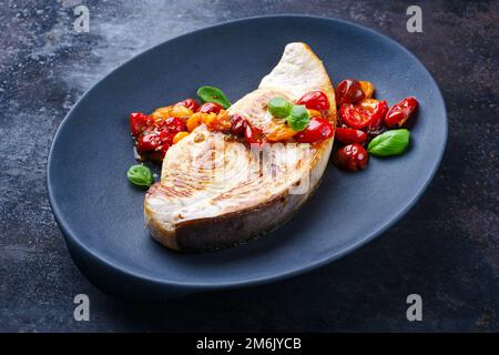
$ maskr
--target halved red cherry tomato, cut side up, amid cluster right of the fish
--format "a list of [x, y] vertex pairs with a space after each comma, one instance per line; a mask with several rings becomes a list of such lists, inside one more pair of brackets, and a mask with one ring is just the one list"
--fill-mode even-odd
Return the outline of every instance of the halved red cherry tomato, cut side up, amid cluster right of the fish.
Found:
[[349, 128], [361, 130], [366, 126], [373, 130], [383, 125], [383, 119], [388, 111], [386, 101], [366, 99], [358, 105], [352, 103], [343, 104], [339, 108], [339, 115], [343, 123]]

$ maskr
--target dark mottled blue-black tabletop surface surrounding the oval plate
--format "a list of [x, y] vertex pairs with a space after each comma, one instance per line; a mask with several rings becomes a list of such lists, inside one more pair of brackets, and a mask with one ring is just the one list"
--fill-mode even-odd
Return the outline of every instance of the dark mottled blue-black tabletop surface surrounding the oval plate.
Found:
[[[72, 9], [90, 8], [90, 33]], [[0, 0], [0, 331], [499, 331], [498, 1]], [[71, 105], [123, 61], [169, 38], [257, 14], [339, 18], [396, 39], [435, 75], [449, 113], [442, 165], [383, 237], [315, 272], [163, 305], [116, 301], [77, 270], [45, 192], [52, 136]], [[73, 296], [91, 322], [73, 320]], [[406, 296], [424, 321], [406, 320]]]

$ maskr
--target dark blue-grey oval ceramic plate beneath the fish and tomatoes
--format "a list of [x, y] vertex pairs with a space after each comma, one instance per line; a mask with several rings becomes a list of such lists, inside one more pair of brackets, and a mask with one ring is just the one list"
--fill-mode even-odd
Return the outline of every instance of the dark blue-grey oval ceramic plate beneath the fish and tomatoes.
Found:
[[[329, 164], [318, 193], [291, 221], [247, 245], [190, 255], [164, 248], [144, 230], [144, 192], [126, 180], [135, 163], [129, 113], [195, 97], [203, 84], [223, 88], [235, 101], [257, 87], [294, 41], [312, 47], [335, 83], [369, 80], [390, 104], [415, 95], [420, 109], [410, 150], [371, 159], [355, 174]], [[354, 251], [415, 204], [437, 170], [446, 135], [434, 79], [393, 40], [324, 18], [245, 19], [164, 42], [86, 92], [53, 141], [49, 196], [69, 250], [91, 281], [122, 296], [166, 298], [288, 277]]]

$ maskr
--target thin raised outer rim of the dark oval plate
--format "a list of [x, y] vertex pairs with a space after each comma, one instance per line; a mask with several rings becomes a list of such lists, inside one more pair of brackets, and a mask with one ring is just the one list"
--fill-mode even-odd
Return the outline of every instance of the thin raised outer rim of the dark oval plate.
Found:
[[[261, 19], [275, 19], [275, 18], [281, 18], [281, 19], [285, 19], [285, 18], [301, 18], [301, 19], [308, 19], [308, 20], [320, 20], [320, 21], [326, 21], [326, 22], [336, 22], [339, 23], [342, 26], [350, 26], [356, 28], [357, 30], [363, 30], [363, 31], [367, 31], [369, 32], [371, 36], [378, 37], [384, 41], [389, 42], [390, 44], [397, 47], [399, 50], [406, 52], [406, 54], [408, 54], [409, 57], [411, 57], [417, 63], [419, 63], [419, 65], [428, 73], [428, 77], [430, 79], [430, 81], [432, 82], [432, 84], [435, 85], [435, 88], [437, 89], [437, 99], [439, 101], [441, 101], [442, 104], [442, 113], [444, 113], [444, 144], [441, 145], [440, 150], [437, 152], [437, 160], [436, 163], [434, 164], [434, 166], [431, 166], [431, 171], [430, 173], [427, 175], [424, 184], [421, 185], [421, 187], [419, 189], [419, 191], [413, 196], [413, 199], [410, 199], [403, 209], [400, 209], [400, 211], [398, 211], [398, 213], [390, 219], [388, 222], [386, 222], [380, 229], [378, 229], [377, 231], [370, 233], [370, 234], [366, 234], [360, 241], [348, 245], [347, 247], [343, 248], [339, 252], [329, 254], [320, 260], [317, 260], [313, 263], [308, 263], [305, 266], [298, 266], [298, 267], [294, 267], [294, 268], [289, 268], [287, 272], [279, 272], [279, 273], [275, 273], [272, 275], [267, 275], [267, 276], [256, 276], [256, 277], [251, 277], [251, 278], [244, 278], [241, 281], [223, 281], [223, 282], [210, 282], [210, 283], [204, 283], [204, 282], [174, 282], [174, 281], [166, 281], [166, 280], [162, 280], [162, 278], [157, 278], [157, 277], [152, 277], [150, 275], [136, 272], [136, 271], [130, 271], [126, 267], [123, 267], [121, 264], [114, 263], [112, 261], [110, 261], [106, 257], [102, 257], [102, 255], [99, 255], [99, 253], [96, 253], [95, 251], [89, 248], [83, 242], [80, 241], [80, 239], [77, 236], [77, 233], [74, 233], [71, 229], [71, 226], [69, 225], [69, 223], [67, 221], [64, 221], [63, 215], [64, 213], [61, 211], [61, 209], [58, 205], [58, 202], [54, 197], [54, 192], [52, 190], [52, 161], [53, 161], [53, 150], [54, 150], [54, 145], [57, 144], [57, 142], [60, 140], [61, 136], [61, 132], [63, 131], [63, 128], [68, 124], [69, 122], [69, 118], [72, 115], [73, 111], [77, 109], [77, 106], [96, 88], [99, 87], [99, 84], [101, 82], [103, 82], [104, 80], [106, 80], [109, 77], [113, 75], [118, 70], [120, 70], [123, 65], [130, 63], [131, 61], [134, 61], [135, 59], [142, 57], [142, 55], [146, 55], [149, 52], [153, 51], [154, 49], [161, 47], [161, 45], [165, 45], [166, 43], [171, 42], [171, 41], [176, 41], [176, 40], [181, 40], [184, 37], [187, 36], [192, 36], [192, 34], [196, 34], [206, 30], [211, 30], [211, 29], [216, 29], [216, 28], [222, 28], [222, 27], [228, 27], [231, 24], [234, 23], [244, 23], [244, 22], [251, 22], [254, 20], [261, 20]], [[126, 61], [120, 63], [118, 67], [115, 67], [113, 70], [111, 70], [108, 74], [105, 74], [103, 78], [101, 78], [99, 81], [96, 81], [91, 88], [89, 88], [78, 100], [77, 102], [72, 105], [71, 110], [65, 114], [64, 119], [61, 121], [61, 123], [59, 124], [55, 134], [53, 135], [52, 142], [51, 142], [51, 146], [50, 146], [50, 151], [48, 154], [48, 162], [47, 162], [47, 175], [45, 175], [45, 183], [47, 183], [47, 191], [48, 191], [48, 196], [49, 196], [49, 204], [51, 206], [54, 220], [59, 226], [59, 229], [62, 232], [62, 235], [64, 237], [64, 242], [68, 245], [69, 241], [68, 239], [70, 239], [72, 246], [78, 246], [79, 251], [83, 251], [84, 253], [88, 253], [92, 256], [93, 260], [99, 261], [100, 263], [103, 264], [103, 266], [105, 267], [110, 267], [112, 268], [114, 272], [118, 272], [120, 274], [124, 274], [125, 276], [129, 277], [133, 277], [133, 278], [138, 278], [138, 280], [142, 280], [142, 281], [146, 281], [153, 284], [157, 284], [160, 286], [169, 286], [171, 288], [184, 288], [186, 291], [202, 291], [202, 290], [225, 290], [225, 288], [235, 288], [235, 287], [244, 287], [244, 286], [251, 286], [251, 285], [261, 285], [261, 284], [266, 284], [266, 283], [272, 283], [272, 282], [276, 282], [279, 280], [285, 280], [285, 278], [289, 278], [299, 274], [304, 274], [306, 272], [309, 272], [312, 270], [322, 267], [328, 263], [332, 263], [352, 252], [354, 252], [355, 250], [359, 248], [360, 246], [367, 244], [368, 242], [373, 241], [374, 239], [376, 239], [377, 236], [381, 235], [385, 231], [387, 231], [389, 227], [391, 227], [393, 225], [395, 225], [398, 221], [400, 221], [400, 219], [406, 215], [406, 213], [413, 207], [415, 206], [415, 204], [419, 201], [419, 199], [422, 196], [422, 194], [426, 192], [426, 190], [428, 189], [430, 182], [434, 180], [437, 171], [439, 170], [440, 165], [441, 165], [441, 161], [447, 148], [447, 140], [448, 140], [448, 114], [447, 114], [447, 108], [446, 108], [446, 103], [444, 100], [444, 95], [441, 94], [440, 88], [438, 85], [438, 83], [436, 82], [435, 78], [431, 75], [430, 71], [425, 67], [425, 64], [411, 52], [409, 51], [407, 48], [405, 48], [403, 44], [400, 44], [398, 41], [391, 39], [390, 37], [380, 33], [376, 30], [373, 30], [370, 28], [367, 28], [365, 26], [361, 24], [357, 24], [350, 21], [346, 21], [346, 20], [340, 20], [340, 19], [336, 19], [336, 18], [328, 18], [328, 17], [319, 17], [319, 16], [310, 16], [310, 14], [296, 14], [296, 13], [276, 13], [276, 14], [267, 14], [267, 16], [255, 16], [255, 17], [246, 17], [246, 18], [238, 18], [235, 20], [230, 20], [230, 21], [224, 21], [224, 22], [220, 22], [216, 24], [212, 24], [212, 26], [207, 26], [207, 27], [203, 27], [200, 29], [196, 29], [194, 31], [190, 31], [173, 38], [170, 38], [165, 41], [162, 41], [157, 44], [154, 44], [145, 50], [143, 50], [142, 52], [133, 55], [132, 58], [128, 59]], [[69, 245], [68, 245], [69, 246]], [[71, 253], [71, 256], [74, 258], [74, 255]], [[101, 265], [102, 266], [102, 265]], [[82, 271], [83, 272], [83, 271]]]

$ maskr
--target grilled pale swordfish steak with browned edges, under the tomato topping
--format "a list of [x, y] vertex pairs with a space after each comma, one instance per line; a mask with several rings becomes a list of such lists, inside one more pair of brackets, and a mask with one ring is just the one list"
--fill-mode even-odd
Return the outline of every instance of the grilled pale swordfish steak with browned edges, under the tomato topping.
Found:
[[[268, 100], [296, 102], [310, 91], [327, 95], [323, 118], [335, 126], [335, 93], [322, 61], [307, 44], [289, 43], [259, 87], [228, 113], [269, 133], [283, 123], [268, 113]], [[181, 252], [223, 248], [272, 231], [317, 187], [332, 145], [330, 138], [252, 149], [198, 125], [166, 152], [161, 182], [145, 196], [146, 227], [157, 242]]]

